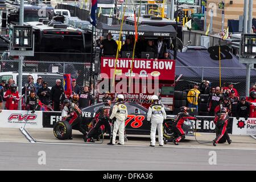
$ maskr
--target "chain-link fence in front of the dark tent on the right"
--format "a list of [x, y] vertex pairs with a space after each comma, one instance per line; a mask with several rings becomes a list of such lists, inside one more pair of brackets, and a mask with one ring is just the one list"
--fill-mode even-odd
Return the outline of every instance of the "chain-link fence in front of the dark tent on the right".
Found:
[[[200, 73], [197, 77], [181, 77], [180, 80], [175, 85], [175, 90], [185, 90], [193, 88], [195, 82], [201, 83], [203, 80], [210, 81], [210, 87], [220, 86], [220, 77], [219, 77], [219, 68], [213, 67], [176, 67], [185, 71], [188, 71], [188, 68], [193, 68], [195, 72]], [[253, 71], [254, 69], [251, 69]], [[235, 77], [230, 77], [229, 75], [234, 75], [233, 73], [237, 72]], [[212, 73], [210, 77], [207, 73]], [[232, 82], [234, 88], [237, 89], [240, 96], [245, 96], [246, 90], [246, 68], [221, 68], [221, 86], [227, 86], [226, 84]], [[256, 82], [256, 76], [250, 77], [250, 87], [252, 87]]]

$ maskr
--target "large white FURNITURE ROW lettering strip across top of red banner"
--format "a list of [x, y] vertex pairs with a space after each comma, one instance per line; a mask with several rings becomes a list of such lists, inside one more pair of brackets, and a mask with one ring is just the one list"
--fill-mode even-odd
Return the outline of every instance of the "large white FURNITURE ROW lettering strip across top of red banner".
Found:
[[[132, 60], [118, 59], [117, 68], [130, 68]], [[141, 69], [172, 69], [173, 61], [151, 61], [151, 60], [134, 60], [134, 68]], [[115, 59], [103, 59], [103, 67], [114, 68]]]

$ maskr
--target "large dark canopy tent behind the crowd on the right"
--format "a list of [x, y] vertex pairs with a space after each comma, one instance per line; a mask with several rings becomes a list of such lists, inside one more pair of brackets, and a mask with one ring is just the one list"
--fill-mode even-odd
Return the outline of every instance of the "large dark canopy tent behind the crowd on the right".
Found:
[[[230, 60], [221, 60], [221, 84], [224, 82], [238, 82], [234, 87], [238, 89], [241, 95], [244, 95], [246, 65], [241, 64], [236, 56], [232, 56], [233, 58]], [[207, 50], [177, 52], [175, 75], [183, 74], [180, 78], [181, 81], [177, 82], [177, 90], [182, 90], [188, 84], [192, 84], [191, 81], [201, 82], [202, 79], [212, 82], [211, 86], [219, 86], [218, 68], [219, 61], [212, 60]], [[251, 69], [250, 79], [251, 83], [255, 83], [256, 71], [254, 69]]]

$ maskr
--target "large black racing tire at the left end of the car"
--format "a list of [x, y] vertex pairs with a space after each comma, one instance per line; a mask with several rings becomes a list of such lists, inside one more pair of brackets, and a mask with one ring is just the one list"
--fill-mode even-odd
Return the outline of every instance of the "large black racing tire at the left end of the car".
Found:
[[72, 126], [67, 121], [58, 121], [53, 126], [53, 134], [59, 140], [68, 139], [72, 134]]

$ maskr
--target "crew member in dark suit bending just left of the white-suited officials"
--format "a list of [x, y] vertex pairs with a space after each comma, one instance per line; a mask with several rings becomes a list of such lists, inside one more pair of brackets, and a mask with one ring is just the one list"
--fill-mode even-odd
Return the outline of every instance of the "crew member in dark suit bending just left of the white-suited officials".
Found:
[[109, 105], [105, 105], [97, 110], [96, 115], [94, 117], [97, 123], [93, 127], [93, 129], [89, 131], [88, 138], [92, 138], [95, 135], [97, 135], [97, 131], [101, 127], [101, 125], [105, 126], [106, 133], [109, 133], [109, 135], [111, 134], [111, 127], [109, 123], [109, 117], [111, 114], [112, 114], [112, 109]]

